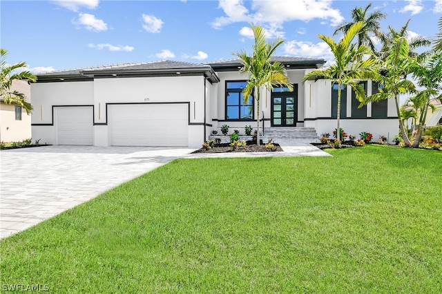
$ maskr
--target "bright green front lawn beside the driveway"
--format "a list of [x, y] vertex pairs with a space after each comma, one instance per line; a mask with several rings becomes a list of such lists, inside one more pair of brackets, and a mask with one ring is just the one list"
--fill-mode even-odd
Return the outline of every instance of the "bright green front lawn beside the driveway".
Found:
[[175, 160], [0, 242], [53, 293], [441, 293], [440, 151]]

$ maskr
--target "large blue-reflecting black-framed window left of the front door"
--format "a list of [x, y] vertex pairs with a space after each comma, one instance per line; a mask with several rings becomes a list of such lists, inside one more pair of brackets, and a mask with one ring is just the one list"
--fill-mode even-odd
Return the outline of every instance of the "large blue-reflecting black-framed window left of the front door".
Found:
[[242, 90], [247, 81], [226, 82], [226, 119], [253, 120], [253, 96], [244, 101]]

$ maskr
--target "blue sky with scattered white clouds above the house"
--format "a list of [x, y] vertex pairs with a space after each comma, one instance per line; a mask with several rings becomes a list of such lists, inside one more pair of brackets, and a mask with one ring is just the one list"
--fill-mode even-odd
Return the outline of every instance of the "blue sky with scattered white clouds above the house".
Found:
[[[0, 1], [0, 45], [8, 63], [32, 72], [159, 60], [206, 63], [251, 52], [249, 23], [285, 40], [277, 55], [331, 59], [318, 34], [332, 35], [350, 10], [372, 2], [387, 25], [408, 19], [410, 36], [432, 37], [442, 0]], [[339, 36], [335, 36], [336, 39]]]

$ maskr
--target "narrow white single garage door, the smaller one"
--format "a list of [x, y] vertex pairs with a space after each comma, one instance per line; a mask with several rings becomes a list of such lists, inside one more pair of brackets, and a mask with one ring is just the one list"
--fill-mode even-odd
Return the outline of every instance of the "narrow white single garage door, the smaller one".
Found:
[[92, 106], [55, 107], [58, 145], [93, 145]]

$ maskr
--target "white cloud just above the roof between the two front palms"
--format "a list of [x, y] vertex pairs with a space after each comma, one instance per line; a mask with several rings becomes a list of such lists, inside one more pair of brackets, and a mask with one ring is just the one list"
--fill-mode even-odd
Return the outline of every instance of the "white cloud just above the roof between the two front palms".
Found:
[[284, 52], [294, 56], [333, 59], [329, 45], [325, 42], [312, 43], [309, 41], [289, 41], [283, 45]]

